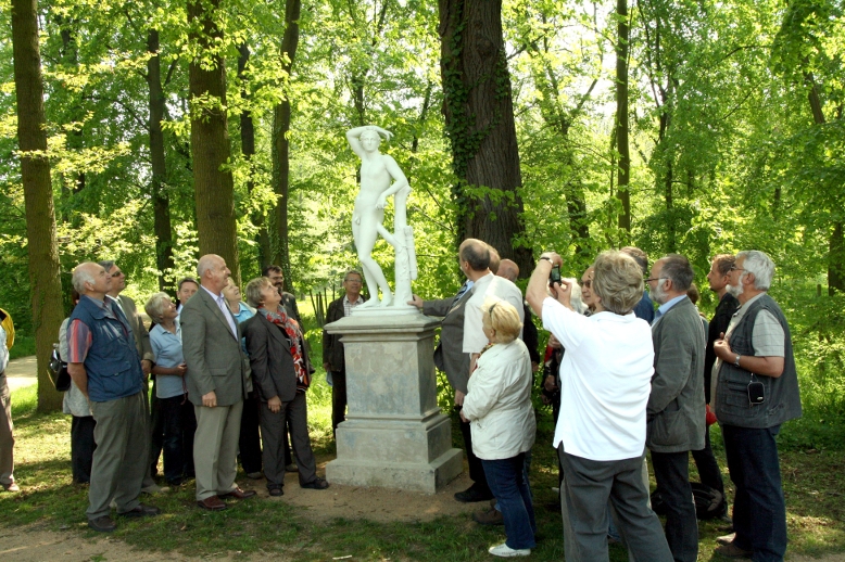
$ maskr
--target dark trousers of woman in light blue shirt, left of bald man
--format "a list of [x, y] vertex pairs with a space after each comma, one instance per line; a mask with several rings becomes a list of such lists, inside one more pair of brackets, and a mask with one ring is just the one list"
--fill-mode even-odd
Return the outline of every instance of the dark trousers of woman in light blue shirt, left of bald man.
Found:
[[193, 475], [193, 434], [197, 416], [188, 395], [157, 400], [164, 426], [164, 477], [168, 484], [178, 485], [184, 477]]

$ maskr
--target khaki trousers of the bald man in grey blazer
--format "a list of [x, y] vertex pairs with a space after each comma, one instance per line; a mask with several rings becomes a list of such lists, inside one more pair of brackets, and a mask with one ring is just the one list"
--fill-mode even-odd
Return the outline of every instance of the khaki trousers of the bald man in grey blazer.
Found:
[[197, 433], [193, 436], [193, 470], [197, 500], [228, 494], [237, 486], [238, 439], [243, 400], [231, 406], [193, 406]]

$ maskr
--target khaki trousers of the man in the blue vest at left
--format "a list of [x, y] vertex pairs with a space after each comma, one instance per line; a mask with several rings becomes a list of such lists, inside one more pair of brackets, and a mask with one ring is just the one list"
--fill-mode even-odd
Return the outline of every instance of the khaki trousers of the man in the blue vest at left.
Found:
[[109, 514], [112, 498], [118, 513], [138, 507], [149, 449], [141, 393], [103, 403], [92, 401], [91, 413], [97, 422], [93, 429], [97, 449], [86, 513], [89, 520], [94, 520]]

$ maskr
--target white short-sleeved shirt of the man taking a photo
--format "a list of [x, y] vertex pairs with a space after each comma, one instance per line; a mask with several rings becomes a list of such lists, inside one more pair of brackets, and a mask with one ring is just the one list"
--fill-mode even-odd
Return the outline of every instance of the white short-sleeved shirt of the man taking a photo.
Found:
[[554, 446], [595, 461], [640, 457], [654, 373], [648, 322], [633, 312], [585, 317], [548, 297], [543, 328], [566, 349]]

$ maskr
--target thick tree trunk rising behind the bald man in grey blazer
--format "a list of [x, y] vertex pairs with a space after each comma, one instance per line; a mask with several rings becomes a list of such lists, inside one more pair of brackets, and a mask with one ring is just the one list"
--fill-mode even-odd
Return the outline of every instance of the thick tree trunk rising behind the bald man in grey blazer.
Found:
[[191, 159], [197, 201], [200, 255], [217, 254], [240, 283], [235, 221], [235, 187], [228, 168], [229, 131], [226, 124], [226, 65], [217, 44], [223, 30], [215, 23], [219, 0], [188, 0], [189, 35], [203, 52], [190, 63]]

